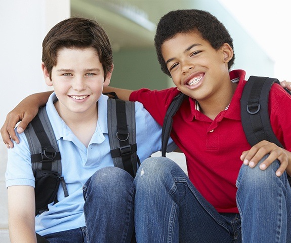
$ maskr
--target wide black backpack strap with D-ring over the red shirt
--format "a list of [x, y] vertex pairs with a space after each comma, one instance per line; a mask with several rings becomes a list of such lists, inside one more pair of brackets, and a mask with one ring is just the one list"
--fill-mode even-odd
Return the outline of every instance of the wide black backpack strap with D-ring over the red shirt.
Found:
[[240, 100], [241, 123], [251, 146], [267, 140], [283, 147], [272, 130], [268, 110], [269, 92], [274, 83], [279, 84], [279, 80], [250, 76], [243, 89]]

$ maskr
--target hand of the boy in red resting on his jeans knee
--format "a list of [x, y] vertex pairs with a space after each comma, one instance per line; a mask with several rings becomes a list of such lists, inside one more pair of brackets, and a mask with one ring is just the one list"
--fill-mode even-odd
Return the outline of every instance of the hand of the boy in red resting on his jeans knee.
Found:
[[240, 159], [243, 161], [244, 165], [248, 165], [251, 168], [254, 168], [266, 154], [270, 155], [261, 163], [260, 169], [266, 170], [275, 159], [278, 159], [281, 165], [276, 171], [276, 175], [278, 177], [281, 176], [290, 164], [291, 153], [283, 148], [278, 147], [274, 143], [263, 140], [253, 146], [250, 150], [243, 151]]

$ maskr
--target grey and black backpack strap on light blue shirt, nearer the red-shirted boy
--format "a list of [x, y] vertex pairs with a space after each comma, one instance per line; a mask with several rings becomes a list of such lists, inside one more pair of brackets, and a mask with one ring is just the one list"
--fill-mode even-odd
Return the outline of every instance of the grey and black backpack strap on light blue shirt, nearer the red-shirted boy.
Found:
[[107, 120], [114, 166], [135, 177], [140, 164], [136, 144], [135, 103], [109, 98]]

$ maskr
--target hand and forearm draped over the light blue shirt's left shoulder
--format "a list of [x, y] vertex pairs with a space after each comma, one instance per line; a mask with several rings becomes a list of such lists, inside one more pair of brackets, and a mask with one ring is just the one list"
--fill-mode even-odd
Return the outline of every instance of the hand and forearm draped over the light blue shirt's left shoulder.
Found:
[[33, 117], [37, 114], [38, 108], [47, 103], [51, 93], [52, 91], [48, 91], [27, 96], [8, 113], [5, 123], [1, 128], [1, 136], [7, 148], [13, 148], [13, 142], [11, 139], [16, 143], [19, 143], [18, 137], [14, 131], [18, 121], [21, 121], [21, 123], [17, 127], [17, 132], [22, 133]]

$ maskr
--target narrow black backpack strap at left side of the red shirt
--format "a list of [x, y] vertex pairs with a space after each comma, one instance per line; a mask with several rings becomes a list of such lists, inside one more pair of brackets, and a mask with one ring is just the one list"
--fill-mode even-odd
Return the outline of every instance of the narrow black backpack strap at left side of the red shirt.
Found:
[[176, 114], [177, 110], [180, 108], [182, 102], [187, 96], [183, 93], [178, 94], [170, 104], [165, 117], [163, 119], [162, 132], [161, 132], [161, 156], [165, 157], [167, 152], [167, 145], [169, 142], [170, 134], [173, 125], [173, 116]]

